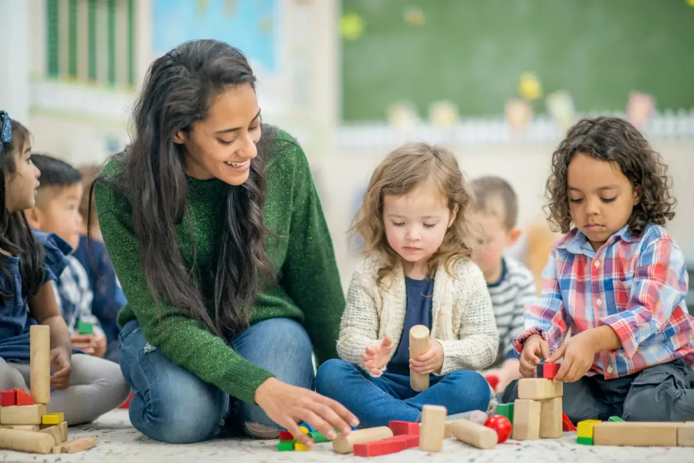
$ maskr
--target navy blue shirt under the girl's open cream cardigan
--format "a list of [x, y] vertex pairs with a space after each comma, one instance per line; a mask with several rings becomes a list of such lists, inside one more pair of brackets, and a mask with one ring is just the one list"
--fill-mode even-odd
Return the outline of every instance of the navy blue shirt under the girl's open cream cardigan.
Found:
[[405, 277], [407, 290], [407, 311], [403, 335], [398, 349], [388, 362], [387, 372], [409, 376], [409, 330], [415, 325], [424, 325], [432, 329], [432, 295], [434, 279], [415, 280]]

